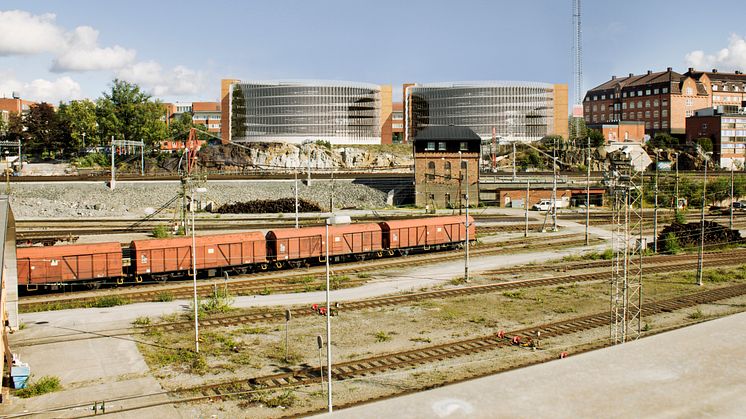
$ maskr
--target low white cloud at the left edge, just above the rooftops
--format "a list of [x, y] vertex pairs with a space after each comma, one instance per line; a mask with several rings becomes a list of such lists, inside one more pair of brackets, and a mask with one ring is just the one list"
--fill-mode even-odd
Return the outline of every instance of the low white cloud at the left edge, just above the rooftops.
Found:
[[10, 97], [13, 92], [26, 100], [52, 104], [83, 97], [80, 84], [68, 76], [55, 80], [35, 79], [26, 83], [17, 80], [11, 73], [0, 73], [0, 96]]

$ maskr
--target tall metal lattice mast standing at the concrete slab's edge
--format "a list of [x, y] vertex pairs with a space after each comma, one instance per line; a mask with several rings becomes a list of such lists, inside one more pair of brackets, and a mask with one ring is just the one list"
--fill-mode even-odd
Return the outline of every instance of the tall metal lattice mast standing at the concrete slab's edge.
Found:
[[617, 344], [642, 333], [643, 173], [629, 159], [612, 160], [609, 187], [614, 225], [610, 338]]

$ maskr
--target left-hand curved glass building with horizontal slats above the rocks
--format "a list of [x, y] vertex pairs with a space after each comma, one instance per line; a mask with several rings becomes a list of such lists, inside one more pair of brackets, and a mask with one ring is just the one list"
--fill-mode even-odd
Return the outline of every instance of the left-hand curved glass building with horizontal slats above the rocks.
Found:
[[[390, 86], [388, 87], [390, 101]], [[257, 81], [230, 87], [230, 140], [381, 143], [381, 86], [343, 81]], [[391, 105], [388, 105], [390, 113]]]

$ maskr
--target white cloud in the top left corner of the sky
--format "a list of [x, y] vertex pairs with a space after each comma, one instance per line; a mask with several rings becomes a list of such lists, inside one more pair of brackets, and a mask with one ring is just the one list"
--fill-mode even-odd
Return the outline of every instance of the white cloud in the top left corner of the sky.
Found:
[[22, 10], [0, 11], [0, 56], [57, 51], [65, 45], [64, 31], [51, 13], [32, 15]]

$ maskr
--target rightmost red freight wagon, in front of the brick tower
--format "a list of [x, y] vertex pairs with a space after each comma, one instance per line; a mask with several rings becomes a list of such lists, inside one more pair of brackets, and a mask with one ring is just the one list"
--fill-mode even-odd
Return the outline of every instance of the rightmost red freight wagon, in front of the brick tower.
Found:
[[[384, 245], [388, 249], [425, 248], [463, 243], [466, 240], [464, 217], [432, 217], [413, 220], [385, 221]], [[469, 240], [476, 240], [474, 219], [469, 217]]]

